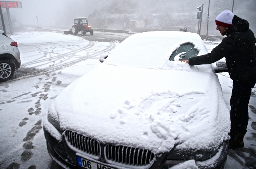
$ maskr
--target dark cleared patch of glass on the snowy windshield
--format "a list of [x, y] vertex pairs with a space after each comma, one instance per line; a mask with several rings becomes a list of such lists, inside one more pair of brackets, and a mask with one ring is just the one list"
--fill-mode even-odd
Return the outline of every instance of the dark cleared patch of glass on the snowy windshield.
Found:
[[169, 61], [174, 60], [188, 60], [191, 57], [197, 56], [199, 51], [195, 49], [195, 45], [186, 43], [180, 45], [180, 48], [176, 49], [170, 56]]

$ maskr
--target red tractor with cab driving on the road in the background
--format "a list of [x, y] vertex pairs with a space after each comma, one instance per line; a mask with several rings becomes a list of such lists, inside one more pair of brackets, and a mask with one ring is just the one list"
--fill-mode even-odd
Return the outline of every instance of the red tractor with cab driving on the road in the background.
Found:
[[93, 29], [91, 29], [91, 25], [88, 25], [88, 21], [86, 18], [74, 18], [74, 25], [71, 29], [72, 33], [76, 35], [81, 31], [81, 35], [85, 35], [86, 32], [90, 32], [93, 35]]

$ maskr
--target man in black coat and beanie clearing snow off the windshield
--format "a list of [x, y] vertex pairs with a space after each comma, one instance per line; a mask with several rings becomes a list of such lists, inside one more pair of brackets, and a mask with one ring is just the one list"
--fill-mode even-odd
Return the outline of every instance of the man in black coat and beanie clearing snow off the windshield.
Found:
[[221, 44], [211, 53], [189, 60], [189, 65], [211, 64], [225, 57], [233, 89], [230, 99], [230, 140], [229, 148], [243, 147], [243, 137], [247, 132], [249, 120], [248, 104], [252, 88], [256, 84], [256, 47], [255, 37], [249, 29], [247, 20], [243, 20], [231, 11], [225, 10], [215, 20], [217, 30], [226, 35]]

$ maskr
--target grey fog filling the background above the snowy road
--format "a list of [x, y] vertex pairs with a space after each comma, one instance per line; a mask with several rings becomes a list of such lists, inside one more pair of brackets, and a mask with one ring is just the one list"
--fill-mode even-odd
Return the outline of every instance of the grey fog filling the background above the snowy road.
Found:
[[[144, 20], [147, 29], [162, 26], [186, 27], [197, 33], [198, 6], [204, 4], [201, 34], [206, 35], [208, 0], [22, 0], [22, 9], [9, 9], [14, 31], [21, 25], [54, 26], [71, 28], [75, 17], [89, 17], [92, 28], [130, 30], [131, 20]], [[211, 0], [209, 35], [219, 35], [215, 18], [225, 9], [232, 10], [233, 0]], [[233, 13], [246, 19], [256, 33], [256, 1], [235, 0]], [[8, 22], [6, 9], [6, 30]], [[124, 24], [125, 23], [125, 24]], [[1, 28], [2, 25], [0, 25]]]

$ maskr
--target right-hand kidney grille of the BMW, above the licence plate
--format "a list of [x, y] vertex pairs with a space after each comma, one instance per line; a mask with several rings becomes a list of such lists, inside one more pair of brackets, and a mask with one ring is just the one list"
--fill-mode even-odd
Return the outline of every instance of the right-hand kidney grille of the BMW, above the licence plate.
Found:
[[148, 150], [122, 145], [106, 145], [105, 154], [108, 160], [126, 165], [145, 166], [154, 160], [154, 153]]

